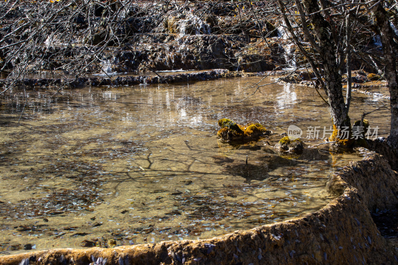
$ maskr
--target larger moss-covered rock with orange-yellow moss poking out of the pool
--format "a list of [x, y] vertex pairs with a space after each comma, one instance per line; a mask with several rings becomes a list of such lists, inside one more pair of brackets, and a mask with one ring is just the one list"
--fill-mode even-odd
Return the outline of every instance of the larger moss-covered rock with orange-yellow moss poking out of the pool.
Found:
[[217, 136], [223, 141], [233, 142], [233, 141], [257, 141], [263, 136], [271, 135], [272, 132], [267, 130], [260, 123], [251, 123], [247, 126], [239, 125], [230, 119], [220, 119], [218, 120], [218, 125], [221, 129], [217, 132]]

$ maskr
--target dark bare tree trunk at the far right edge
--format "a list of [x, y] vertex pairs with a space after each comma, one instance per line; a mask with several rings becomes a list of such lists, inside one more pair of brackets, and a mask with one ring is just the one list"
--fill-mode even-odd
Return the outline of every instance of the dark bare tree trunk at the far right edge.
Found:
[[385, 77], [390, 89], [391, 131], [389, 142], [398, 148], [398, 75], [397, 75], [397, 43], [394, 42], [395, 32], [390, 26], [389, 15], [382, 4], [374, 7], [376, 25], [380, 30], [383, 53], [386, 61]]

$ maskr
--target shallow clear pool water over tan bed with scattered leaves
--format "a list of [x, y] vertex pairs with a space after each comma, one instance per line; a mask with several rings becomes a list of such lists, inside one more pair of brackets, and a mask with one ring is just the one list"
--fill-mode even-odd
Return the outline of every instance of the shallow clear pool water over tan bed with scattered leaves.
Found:
[[[328, 176], [358, 154], [279, 156], [278, 135], [217, 139], [224, 117], [276, 133], [330, 125], [312, 88], [274, 84], [241, 101], [258, 81], [32, 90], [20, 125], [23, 92], [10, 91], [0, 104], [1, 253], [209, 238], [326, 205]], [[354, 95], [351, 118], [380, 100]], [[387, 134], [387, 109], [367, 118]]]

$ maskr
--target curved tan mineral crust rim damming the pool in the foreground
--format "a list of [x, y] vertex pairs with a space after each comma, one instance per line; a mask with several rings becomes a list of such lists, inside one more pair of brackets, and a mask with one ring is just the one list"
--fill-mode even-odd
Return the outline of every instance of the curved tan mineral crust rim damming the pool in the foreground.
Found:
[[[1, 265], [93, 264], [398, 264], [371, 211], [398, 205], [397, 174], [369, 153], [337, 172], [338, 196], [320, 210], [275, 224], [205, 240], [165, 241], [111, 249], [52, 249], [0, 257]], [[24, 260], [27, 259], [27, 260]], [[100, 260], [99, 260], [100, 259]], [[29, 262], [28, 262], [29, 261]]]

